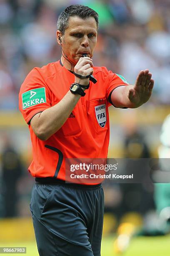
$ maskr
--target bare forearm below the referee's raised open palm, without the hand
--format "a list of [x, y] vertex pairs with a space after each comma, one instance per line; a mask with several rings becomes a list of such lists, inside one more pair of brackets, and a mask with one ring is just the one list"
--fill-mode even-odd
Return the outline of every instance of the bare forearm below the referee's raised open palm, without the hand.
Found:
[[135, 104], [129, 100], [129, 90], [133, 88], [133, 85], [120, 86], [113, 90], [111, 95], [112, 103], [117, 108], [138, 108], [142, 104]]

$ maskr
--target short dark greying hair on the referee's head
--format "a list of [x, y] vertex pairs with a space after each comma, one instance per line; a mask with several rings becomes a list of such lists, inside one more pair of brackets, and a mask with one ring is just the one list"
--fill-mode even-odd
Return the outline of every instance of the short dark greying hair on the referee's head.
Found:
[[70, 16], [78, 16], [80, 18], [94, 17], [97, 28], [99, 24], [99, 15], [88, 6], [84, 5], [70, 5], [60, 13], [57, 21], [57, 28], [64, 35], [66, 28], [68, 27], [68, 20]]

